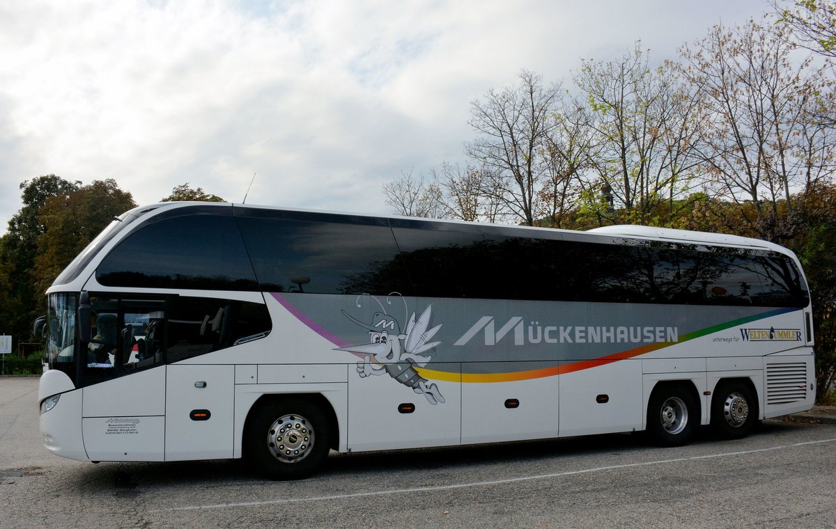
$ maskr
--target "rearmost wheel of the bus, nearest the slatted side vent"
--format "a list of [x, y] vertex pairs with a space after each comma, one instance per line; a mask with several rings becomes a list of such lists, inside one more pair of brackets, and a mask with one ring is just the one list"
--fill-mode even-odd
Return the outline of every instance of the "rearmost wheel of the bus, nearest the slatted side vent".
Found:
[[740, 439], [757, 425], [757, 399], [747, 384], [717, 384], [711, 399], [711, 429], [721, 439]]

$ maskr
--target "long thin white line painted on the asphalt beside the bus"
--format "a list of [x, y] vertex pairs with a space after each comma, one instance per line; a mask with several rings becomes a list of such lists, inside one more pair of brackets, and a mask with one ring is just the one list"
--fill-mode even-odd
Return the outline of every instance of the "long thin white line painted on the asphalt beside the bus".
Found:
[[721, 454], [709, 454], [709, 455], [693, 455], [691, 457], [681, 457], [676, 459], [667, 459], [667, 460], [656, 460], [656, 461], [645, 461], [643, 463], [627, 463], [624, 465], [609, 465], [609, 466], [597, 466], [595, 468], [588, 468], [582, 469], [579, 471], [565, 471], [565, 472], [554, 472], [552, 474], [538, 474], [535, 476], [520, 476], [520, 477], [512, 477], [506, 478], [503, 480], [491, 480], [491, 481], [473, 481], [472, 483], [459, 483], [456, 485], [438, 485], [438, 486], [419, 486], [419, 487], [412, 487], [409, 489], [390, 489], [389, 491], [370, 491], [370, 492], [354, 492], [353, 494], [335, 494], [333, 496], [308, 496], [306, 498], [284, 498], [278, 500], [264, 500], [264, 501], [241, 501], [237, 503], [216, 503], [210, 505], [202, 505], [202, 506], [181, 506], [181, 507], [169, 507], [166, 509], [155, 509], [150, 510], [149, 512], [171, 512], [171, 511], [201, 511], [206, 509], [227, 509], [229, 507], [250, 507], [250, 506], [265, 506], [265, 505], [281, 505], [281, 504], [290, 504], [290, 503], [302, 503], [304, 501], [334, 501], [334, 500], [348, 500], [351, 498], [363, 498], [363, 497], [373, 497], [373, 496], [394, 496], [395, 494], [411, 494], [414, 492], [435, 492], [435, 491], [451, 491], [454, 489], [464, 489], [468, 487], [477, 487], [477, 486], [492, 486], [492, 485], [503, 485], [506, 483], [517, 483], [520, 481], [533, 481], [533, 480], [544, 480], [544, 479], [552, 479], [556, 477], [564, 477], [564, 476], [579, 476], [581, 474], [592, 474], [594, 472], [604, 472], [604, 471], [615, 471], [624, 468], [632, 468], [635, 466], [650, 466], [650, 465], [668, 465], [670, 463], [681, 463], [685, 461], [696, 461], [696, 460], [706, 460], [706, 459], [714, 459], [718, 457], [732, 457], [736, 455], [747, 455], [747, 454], [758, 454], [762, 452], [772, 452], [775, 450], [788, 450], [790, 448], [797, 448], [799, 446], [808, 446], [808, 445], [822, 445], [824, 443], [832, 443], [836, 441], [836, 438], [833, 439], [824, 439], [824, 440], [816, 440], [816, 441], [807, 441], [803, 443], [793, 443], [792, 445], [780, 445], [780, 446], [771, 446], [769, 448], [759, 448], [757, 450], [742, 450], [739, 452], [724, 452]]

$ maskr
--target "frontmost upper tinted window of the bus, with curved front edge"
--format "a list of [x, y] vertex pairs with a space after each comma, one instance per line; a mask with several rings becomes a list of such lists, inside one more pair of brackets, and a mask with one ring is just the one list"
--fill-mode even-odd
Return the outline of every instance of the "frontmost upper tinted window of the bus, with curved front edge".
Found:
[[218, 215], [151, 222], [104, 257], [96, 279], [110, 287], [257, 290], [235, 221]]

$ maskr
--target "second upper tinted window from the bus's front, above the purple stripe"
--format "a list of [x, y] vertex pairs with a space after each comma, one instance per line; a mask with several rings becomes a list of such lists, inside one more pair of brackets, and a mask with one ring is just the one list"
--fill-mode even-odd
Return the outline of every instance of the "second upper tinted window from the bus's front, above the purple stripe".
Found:
[[261, 289], [408, 294], [389, 226], [238, 217]]

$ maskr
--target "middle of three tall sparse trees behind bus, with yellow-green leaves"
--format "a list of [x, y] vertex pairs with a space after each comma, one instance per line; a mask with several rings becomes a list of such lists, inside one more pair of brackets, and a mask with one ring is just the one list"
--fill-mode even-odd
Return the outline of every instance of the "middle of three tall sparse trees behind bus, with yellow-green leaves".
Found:
[[574, 81], [586, 95], [594, 131], [587, 154], [598, 178], [588, 187], [608, 190], [614, 206], [630, 214], [626, 221], [659, 221], [660, 206], [672, 207], [691, 190], [688, 175], [696, 166], [693, 104], [670, 66], [651, 69], [636, 43], [618, 61], [585, 62]]

